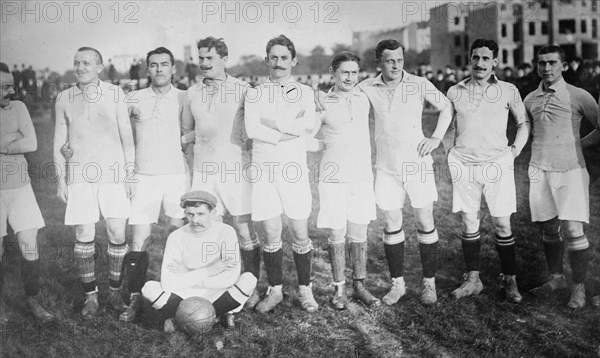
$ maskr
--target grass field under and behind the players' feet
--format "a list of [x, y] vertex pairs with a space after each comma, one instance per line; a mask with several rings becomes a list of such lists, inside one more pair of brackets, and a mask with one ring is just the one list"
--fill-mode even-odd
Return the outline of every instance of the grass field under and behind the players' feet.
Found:
[[[439, 201], [434, 214], [440, 233], [437, 290], [439, 301], [432, 307], [419, 304], [417, 292], [421, 265], [416, 228], [409, 206], [405, 207], [406, 282], [409, 293], [392, 307], [368, 309], [352, 302], [348, 310], [336, 311], [328, 304], [333, 291], [326, 251], [326, 233], [315, 228], [318, 212], [316, 185], [313, 183], [314, 210], [309, 222], [313, 251], [315, 297], [321, 305], [317, 313], [303, 312], [297, 303], [296, 273], [291, 248], [285, 245], [283, 303], [269, 314], [242, 311], [236, 327], [215, 326], [199, 340], [181, 333], [165, 334], [152, 321], [133, 324], [118, 321], [115, 313], [102, 308], [98, 317], [83, 321], [80, 310], [83, 292], [73, 262], [74, 232], [63, 222], [64, 205], [55, 197], [51, 168], [53, 123], [50, 114], [35, 113], [39, 146], [28, 156], [33, 187], [41, 206], [46, 227], [40, 231], [39, 245], [43, 267], [43, 301], [58, 316], [58, 322], [36, 324], [25, 313], [20, 280], [20, 259], [13, 236], [5, 238], [2, 265], [10, 323], [1, 327], [2, 357], [600, 357], [600, 309], [586, 306], [578, 312], [566, 307], [569, 292], [549, 298], [524, 295], [523, 303], [505, 303], [497, 295], [499, 262], [493, 245], [489, 215], [481, 227], [484, 238], [482, 280], [484, 291], [477, 297], [460, 301], [450, 292], [461, 282], [464, 268], [460, 248], [459, 217], [451, 212], [451, 184], [439, 175]], [[435, 116], [426, 116], [426, 131], [431, 131]], [[442, 150], [434, 153], [443, 173]], [[311, 155], [310, 161], [318, 160]], [[518, 284], [521, 292], [536, 286], [546, 274], [540, 235], [530, 222], [526, 163], [529, 148], [516, 166], [518, 213], [513, 215], [517, 237]], [[600, 158], [598, 158], [600, 160]], [[588, 273], [588, 297], [600, 293], [600, 185], [592, 188], [592, 221], [586, 226], [593, 252]], [[484, 211], [485, 212], [485, 211]], [[379, 214], [381, 215], [381, 214]], [[368, 286], [382, 297], [389, 286], [389, 271], [381, 242], [383, 221], [369, 226]], [[149, 279], [159, 275], [166, 224], [153, 230], [150, 245]], [[130, 236], [130, 233], [128, 233]], [[104, 224], [97, 225], [97, 242], [102, 247], [99, 272], [100, 302], [107, 295], [107, 238]], [[284, 229], [284, 242], [289, 236]], [[565, 255], [566, 272], [568, 262]], [[347, 277], [351, 276], [350, 270]], [[265, 275], [259, 283], [265, 289]]]

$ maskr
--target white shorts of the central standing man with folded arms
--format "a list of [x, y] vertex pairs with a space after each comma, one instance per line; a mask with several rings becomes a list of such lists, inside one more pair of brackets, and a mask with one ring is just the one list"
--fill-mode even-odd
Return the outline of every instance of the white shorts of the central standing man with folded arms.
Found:
[[283, 213], [293, 220], [304, 220], [310, 216], [312, 193], [308, 181], [308, 170], [301, 174], [280, 173], [270, 176], [268, 171], [257, 171], [251, 167], [252, 220], [264, 221]]

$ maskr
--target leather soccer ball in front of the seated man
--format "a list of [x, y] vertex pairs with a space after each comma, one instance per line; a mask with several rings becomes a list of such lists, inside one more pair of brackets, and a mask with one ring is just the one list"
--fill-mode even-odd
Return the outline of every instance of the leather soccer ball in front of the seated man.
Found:
[[212, 303], [202, 297], [188, 297], [181, 301], [175, 313], [177, 327], [192, 337], [210, 331], [216, 322]]

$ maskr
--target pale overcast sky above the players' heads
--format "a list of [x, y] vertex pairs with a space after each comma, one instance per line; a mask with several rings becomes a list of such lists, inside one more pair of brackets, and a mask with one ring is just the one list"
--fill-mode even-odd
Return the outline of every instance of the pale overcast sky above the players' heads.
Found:
[[350, 45], [352, 32], [402, 27], [426, 21], [428, 10], [446, 1], [31, 1], [0, 0], [0, 60], [11, 68], [71, 68], [82, 46], [105, 61], [138, 58], [159, 46], [184, 59], [184, 46], [206, 36], [222, 37], [228, 66], [243, 55], [264, 57], [267, 41], [285, 34], [301, 54], [317, 45]]

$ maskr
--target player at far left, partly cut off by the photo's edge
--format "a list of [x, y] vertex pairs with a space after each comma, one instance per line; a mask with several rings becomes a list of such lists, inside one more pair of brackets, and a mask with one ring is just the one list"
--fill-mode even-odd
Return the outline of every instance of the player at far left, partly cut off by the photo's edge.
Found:
[[[0, 85], [0, 264], [4, 249], [2, 241], [10, 225], [21, 249], [21, 278], [27, 309], [37, 320], [47, 322], [54, 316], [40, 302], [41, 263], [37, 244], [38, 230], [45, 223], [31, 187], [24, 156], [37, 149], [35, 128], [25, 104], [11, 101], [15, 84], [5, 63], [0, 63]], [[4, 269], [0, 267], [0, 291], [4, 286], [3, 273]], [[0, 304], [0, 324], [5, 324], [8, 318], [4, 300]]]

